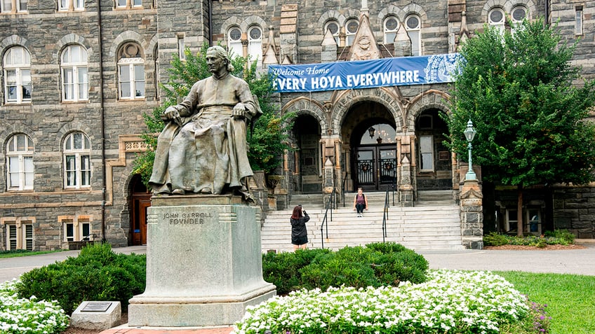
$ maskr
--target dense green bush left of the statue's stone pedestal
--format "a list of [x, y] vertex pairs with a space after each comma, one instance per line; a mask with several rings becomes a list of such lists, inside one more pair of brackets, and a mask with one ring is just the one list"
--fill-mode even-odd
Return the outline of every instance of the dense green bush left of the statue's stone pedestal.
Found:
[[16, 288], [20, 298], [58, 300], [72, 314], [84, 300], [117, 300], [126, 308], [145, 290], [145, 255], [123, 255], [109, 244], [86, 246], [77, 257], [25, 272]]

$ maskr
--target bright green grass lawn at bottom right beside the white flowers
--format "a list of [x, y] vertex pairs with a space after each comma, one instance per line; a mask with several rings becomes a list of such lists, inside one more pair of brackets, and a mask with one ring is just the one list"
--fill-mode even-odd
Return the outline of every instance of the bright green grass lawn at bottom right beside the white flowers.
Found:
[[595, 276], [494, 272], [532, 302], [547, 304], [551, 334], [595, 333]]

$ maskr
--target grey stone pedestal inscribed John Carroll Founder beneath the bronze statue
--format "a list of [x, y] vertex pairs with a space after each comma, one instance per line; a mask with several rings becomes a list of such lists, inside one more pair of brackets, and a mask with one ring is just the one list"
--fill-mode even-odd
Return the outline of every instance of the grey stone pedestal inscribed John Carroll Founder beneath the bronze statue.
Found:
[[154, 197], [147, 287], [128, 326], [229, 326], [276, 294], [262, 279], [260, 209], [232, 195]]

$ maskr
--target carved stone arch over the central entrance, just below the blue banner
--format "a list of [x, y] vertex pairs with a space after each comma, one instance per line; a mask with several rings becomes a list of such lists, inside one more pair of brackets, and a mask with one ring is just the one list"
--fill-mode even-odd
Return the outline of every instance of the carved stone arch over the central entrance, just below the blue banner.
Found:
[[333, 109], [331, 109], [330, 119], [332, 129], [336, 132], [347, 116], [349, 109], [358, 102], [372, 101], [385, 106], [391, 113], [396, 125], [396, 131], [399, 132], [403, 127], [403, 107], [400, 102], [398, 91], [387, 88], [366, 88], [360, 90], [343, 90], [333, 96]]

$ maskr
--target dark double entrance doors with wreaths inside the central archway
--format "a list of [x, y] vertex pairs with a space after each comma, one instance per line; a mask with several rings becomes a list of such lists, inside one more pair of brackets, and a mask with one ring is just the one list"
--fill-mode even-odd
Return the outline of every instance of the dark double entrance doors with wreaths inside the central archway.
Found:
[[396, 184], [394, 144], [361, 146], [354, 159], [356, 188], [386, 190]]

